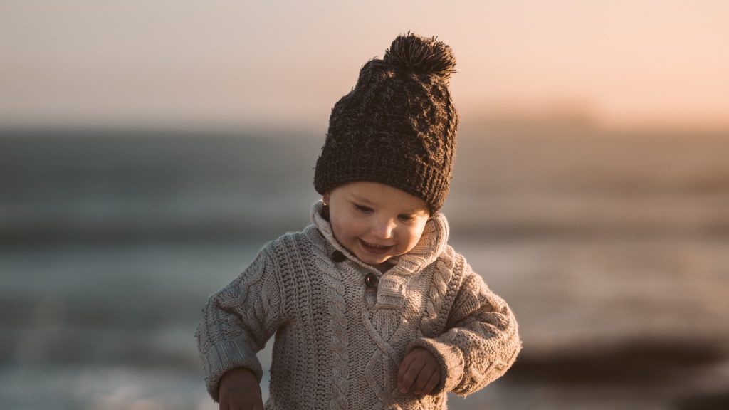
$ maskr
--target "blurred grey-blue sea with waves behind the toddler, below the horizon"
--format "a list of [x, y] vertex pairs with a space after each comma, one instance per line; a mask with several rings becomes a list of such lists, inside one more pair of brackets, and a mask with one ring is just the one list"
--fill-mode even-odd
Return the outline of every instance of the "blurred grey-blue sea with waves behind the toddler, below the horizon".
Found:
[[[308, 224], [323, 140], [0, 131], [1, 407], [217, 409], [200, 309]], [[729, 134], [464, 125], [443, 211], [524, 341], [451, 409], [729, 409]]]

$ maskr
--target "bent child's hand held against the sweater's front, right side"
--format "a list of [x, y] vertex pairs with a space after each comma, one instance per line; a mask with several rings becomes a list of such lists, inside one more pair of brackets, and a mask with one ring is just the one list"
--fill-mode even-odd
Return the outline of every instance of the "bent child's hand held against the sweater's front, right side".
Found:
[[427, 349], [416, 347], [400, 363], [397, 387], [403, 394], [413, 387], [416, 395], [427, 395], [440, 382], [440, 364]]

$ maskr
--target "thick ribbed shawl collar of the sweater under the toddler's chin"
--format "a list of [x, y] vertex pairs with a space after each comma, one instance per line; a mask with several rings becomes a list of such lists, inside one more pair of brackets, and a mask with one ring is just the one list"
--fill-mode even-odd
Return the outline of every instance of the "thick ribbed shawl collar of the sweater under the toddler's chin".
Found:
[[[316, 201], [313, 204], [311, 207], [311, 222], [319, 233], [324, 236], [324, 239], [327, 240], [327, 250], [325, 250], [327, 254], [331, 255], [332, 252], [338, 251], [359, 266], [363, 266], [380, 274], [374, 266], [359, 260], [359, 258], [346, 250], [337, 241], [332, 231], [332, 224], [324, 219], [324, 216], [321, 214], [322, 209], [324, 209], [324, 203], [322, 201]], [[418, 244], [410, 252], [389, 259], [393, 263], [393, 266], [387, 273], [409, 275], [421, 271], [430, 263], [433, 263], [448, 244], [448, 232], [448, 221], [445, 219], [445, 215], [441, 212], [436, 212], [426, 223], [423, 236], [421, 236]]]

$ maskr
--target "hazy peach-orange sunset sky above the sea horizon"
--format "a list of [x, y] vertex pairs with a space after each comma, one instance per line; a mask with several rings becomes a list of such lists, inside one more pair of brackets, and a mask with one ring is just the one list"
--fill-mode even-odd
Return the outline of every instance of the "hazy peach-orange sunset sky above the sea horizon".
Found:
[[0, 126], [324, 132], [359, 67], [411, 30], [453, 47], [464, 120], [729, 128], [728, 21], [722, 0], [3, 1]]

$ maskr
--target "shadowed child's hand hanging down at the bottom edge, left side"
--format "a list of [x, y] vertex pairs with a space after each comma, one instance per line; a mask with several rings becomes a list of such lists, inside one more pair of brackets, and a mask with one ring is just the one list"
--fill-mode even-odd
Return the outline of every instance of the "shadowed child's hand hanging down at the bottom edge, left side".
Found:
[[219, 386], [220, 410], [263, 410], [258, 379], [247, 368], [226, 371]]

